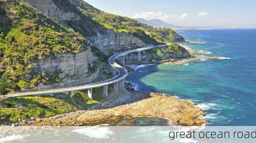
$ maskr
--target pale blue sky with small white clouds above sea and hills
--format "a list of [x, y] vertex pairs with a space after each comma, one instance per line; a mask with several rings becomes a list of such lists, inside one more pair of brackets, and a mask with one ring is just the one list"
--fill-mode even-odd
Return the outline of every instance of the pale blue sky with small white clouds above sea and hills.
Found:
[[85, 0], [102, 11], [182, 26], [256, 26], [256, 0]]

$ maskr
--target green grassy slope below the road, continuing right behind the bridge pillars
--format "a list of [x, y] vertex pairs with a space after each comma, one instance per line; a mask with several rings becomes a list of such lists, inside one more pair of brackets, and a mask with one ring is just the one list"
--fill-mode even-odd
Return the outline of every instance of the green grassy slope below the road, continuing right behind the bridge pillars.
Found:
[[[113, 91], [109, 88], [109, 92]], [[102, 101], [102, 88], [93, 89], [93, 98], [90, 100], [87, 91], [72, 92], [73, 99], [79, 107], [87, 109]], [[66, 97], [63, 99], [55, 97], [17, 97], [0, 100], [0, 124], [4, 122], [14, 123], [19, 120], [33, 118], [51, 117], [67, 112], [77, 111], [78, 107]], [[2, 108], [1, 108], [2, 107]]]

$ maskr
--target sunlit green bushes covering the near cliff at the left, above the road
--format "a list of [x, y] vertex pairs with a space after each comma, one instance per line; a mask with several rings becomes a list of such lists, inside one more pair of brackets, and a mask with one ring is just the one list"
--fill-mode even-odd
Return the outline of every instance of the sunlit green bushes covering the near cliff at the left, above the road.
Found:
[[0, 76], [7, 76], [12, 90], [58, 83], [58, 72], [55, 75], [32, 72], [35, 63], [56, 54], [76, 54], [88, 48], [83, 36], [26, 3], [0, 0], [0, 5], [12, 14], [6, 15], [0, 8]]

